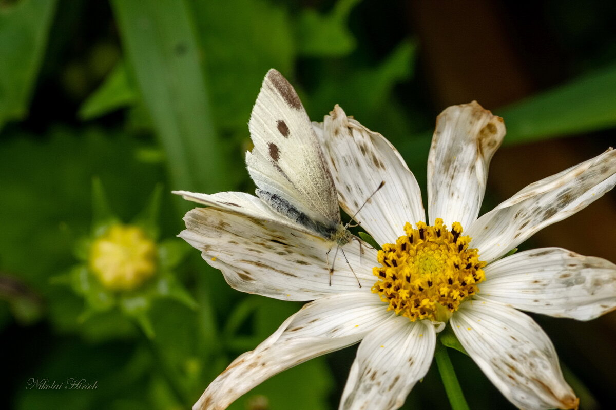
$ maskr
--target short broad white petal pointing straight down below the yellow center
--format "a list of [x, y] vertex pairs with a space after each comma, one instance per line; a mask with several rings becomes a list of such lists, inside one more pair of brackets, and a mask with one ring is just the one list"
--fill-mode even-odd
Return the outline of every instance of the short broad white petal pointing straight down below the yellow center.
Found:
[[436, 331], [429, 321], [392, 317], [366, 336], [342, 393], [340, 410], [399, 409], [434, 356]]

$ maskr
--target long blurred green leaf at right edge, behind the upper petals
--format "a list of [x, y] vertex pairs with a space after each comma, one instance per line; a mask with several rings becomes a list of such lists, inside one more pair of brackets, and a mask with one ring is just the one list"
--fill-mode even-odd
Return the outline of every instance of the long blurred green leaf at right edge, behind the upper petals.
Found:
[[524, 143], [616, 125], [616, 65], [495, 110], [505, 119], [504, 143]]

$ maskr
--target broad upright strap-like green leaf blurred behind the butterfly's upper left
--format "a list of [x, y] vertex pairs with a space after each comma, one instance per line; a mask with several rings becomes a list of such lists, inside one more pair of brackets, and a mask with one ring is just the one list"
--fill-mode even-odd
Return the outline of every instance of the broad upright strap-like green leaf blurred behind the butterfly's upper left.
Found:
[[[167, 155], [174, 187], [224, 186], [224, 168], [201, 71], [192, 10], [185, 1], [114, 0], [124, 52]], [[224, 173], [224, 172], [222, 172]]]

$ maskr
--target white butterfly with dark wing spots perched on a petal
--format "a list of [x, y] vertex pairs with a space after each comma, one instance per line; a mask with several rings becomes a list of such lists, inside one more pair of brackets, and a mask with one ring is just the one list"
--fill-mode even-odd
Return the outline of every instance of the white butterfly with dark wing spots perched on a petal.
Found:
[[[312, 123], [298, 94], [275, 69], [263, 80], [248, 128], [254, 149], [246, 152], [246, 167], [258, 198], [243, 192], [174, 193], [291, 226], [331, 242], [330, 250], [351, 242], [354, 236], [342, 224], [336, 187]], [[331, 273], [333, 266], [330, 284]]]

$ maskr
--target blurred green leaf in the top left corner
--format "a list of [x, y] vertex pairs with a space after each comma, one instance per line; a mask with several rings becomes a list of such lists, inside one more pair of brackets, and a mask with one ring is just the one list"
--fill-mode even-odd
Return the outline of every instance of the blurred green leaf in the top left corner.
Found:
[[0, 5], [0, 130], [28, 109], [57, 0]]

